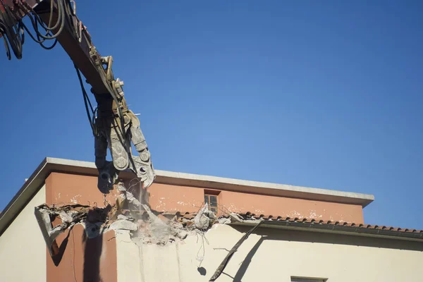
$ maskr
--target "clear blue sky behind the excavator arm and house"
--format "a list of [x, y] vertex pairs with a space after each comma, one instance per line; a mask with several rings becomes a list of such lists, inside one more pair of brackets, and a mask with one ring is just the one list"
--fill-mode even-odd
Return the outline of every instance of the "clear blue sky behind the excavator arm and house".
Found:
[[[373, 194], [364, 221], [423, 229], [421, 1], [118, 6], [77, 13], [155, 168]], [[94, 139], [60, 46], [0, 64], [3, 209], [44, 157], [94, 161]]]

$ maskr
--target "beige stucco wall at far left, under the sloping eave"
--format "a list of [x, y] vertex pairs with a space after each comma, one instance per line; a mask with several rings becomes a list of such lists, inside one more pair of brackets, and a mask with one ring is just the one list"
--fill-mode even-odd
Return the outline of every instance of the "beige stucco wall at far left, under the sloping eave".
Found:
[[43, 186], [0, 236], [1, 281], [46, 281], [46, 244], [34, 216], [45, 201]]

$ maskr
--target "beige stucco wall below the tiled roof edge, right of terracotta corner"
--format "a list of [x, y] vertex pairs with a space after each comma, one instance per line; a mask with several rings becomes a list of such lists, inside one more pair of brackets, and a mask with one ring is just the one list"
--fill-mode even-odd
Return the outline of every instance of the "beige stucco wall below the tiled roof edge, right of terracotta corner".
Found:
[[[204, 276], [196, 259], [203, 254], [201, 237], [164, 247], [138, 247], [128, 235], [118, 234], [118, 281], [209, 281], [227, 254], [224, 249], [230, 250], [244, 231], [247, 228], [214, 226], [207, 232]], [[269, 228], [258, 232], [235, 252], [217, 281], [289, 282], [291, 276], [302, 276], [329, 278], [328, 282], [397, 282], [423, 277], [422, 243]]]

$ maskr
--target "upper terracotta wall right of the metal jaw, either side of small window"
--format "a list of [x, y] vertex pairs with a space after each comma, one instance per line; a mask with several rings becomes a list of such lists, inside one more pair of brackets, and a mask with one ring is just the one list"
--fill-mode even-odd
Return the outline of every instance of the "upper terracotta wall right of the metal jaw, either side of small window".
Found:
[[[154, 183], [149, 188], [149, 203], [158, 212], [197, 212], [204, 202], [204, 189]], [[221, 191], [218, 204], [231, 212], [252, 212], [331, 221], [363, 223], [362, 207], [356, 204], [321, 202]]]

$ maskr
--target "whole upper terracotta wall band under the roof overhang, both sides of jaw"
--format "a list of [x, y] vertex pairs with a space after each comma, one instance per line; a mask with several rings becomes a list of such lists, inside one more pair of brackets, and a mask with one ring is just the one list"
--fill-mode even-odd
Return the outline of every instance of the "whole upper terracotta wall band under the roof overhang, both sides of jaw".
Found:
[[[127, 185], [128, 187], [128, 185]], [[158, 212], [197, 212], [204, 202], [204, 189], [154, 183], [149, 189], [150, 207]], [[106, 197], [116, 200], [116, 190]], [[47, 204], [78, 203], [104, 207], [104, 196], [97, 189], [97, 177], [51, 173], [46, 179]], [[272, 216], [290, 216], [331, 221], [363, 223], [362, 207], [356, 204], [321, 202], [274, 197], [242, 192], [221, 191], [218, 203], [231, 212], [252, 212]]]

